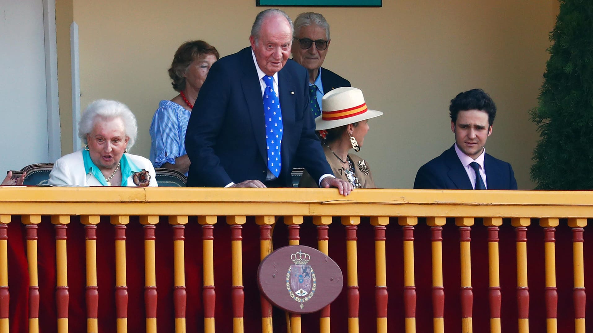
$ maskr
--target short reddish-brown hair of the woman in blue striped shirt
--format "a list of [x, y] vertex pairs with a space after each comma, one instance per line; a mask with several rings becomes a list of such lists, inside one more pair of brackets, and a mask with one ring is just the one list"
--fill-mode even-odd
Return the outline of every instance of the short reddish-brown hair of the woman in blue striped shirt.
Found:
[[169, 77], [173, 82], [173, 89], [181, 91], [185, 89], [185, 77], [183, 74], [197, 58], [202, 55], [214, 55], [216, 60], [220, 57], [216, 47], [204, 42], [203, 40], [192, 40], [185, 42], [175, 52], [171, 68], [169, 68]]

